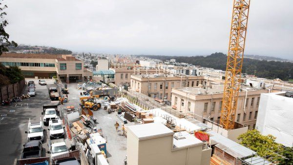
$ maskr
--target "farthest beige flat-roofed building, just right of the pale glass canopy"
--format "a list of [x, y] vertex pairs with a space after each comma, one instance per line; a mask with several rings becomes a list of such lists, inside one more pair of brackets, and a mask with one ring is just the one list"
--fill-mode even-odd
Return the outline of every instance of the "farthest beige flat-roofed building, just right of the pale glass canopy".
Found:
[[115, 84], [130, 83], [131, 75], [140, 74], [156, 74], [159, 72], [158, 69], [144, 69], [144, 68], [133, 68], [133, 67], [120, 67], [110, 68], [115, 73]]

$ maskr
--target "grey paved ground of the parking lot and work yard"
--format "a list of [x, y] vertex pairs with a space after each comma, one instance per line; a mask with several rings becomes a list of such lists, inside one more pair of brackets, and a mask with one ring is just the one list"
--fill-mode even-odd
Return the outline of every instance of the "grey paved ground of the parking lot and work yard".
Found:
[[[30, 81], [30, 79], [27, 79]], [[51, 103], [47, 90], [47, 85], [39, 85], [38, 80], [33, 79], [36, 83], [35, 97], [24, 99], [22, 102], [13, 103], [12, 105], [6, 105], [0, 107], [0, 158], [1, 164], [12, 165], [17, 158], [21, 157], [23, 144], [27, 142], [27, 125], [28, 120], [31, 119], [32, 123], [40, 122], [42, 118], [42, 105], [45, 103]], [[47, 84], [53, 84], [52, 80], [46, 80]], [[68, 103], [59, 105], [58, 109], [64, 106], [75, 106], [79, 108], [80, 91], [76, 88], [76, 83], [68, 84], [69, 94]], [[27, 88], [24, 90], [26, 94]], [[103, 134], [107, 140], [107, 160], [110, 165], [124, 165], [124, 159], [126, 158], [126, 137], [122, 136], [122, 131], [116, 132], [114, 127], [115, 122], [122, 122], [117, 118], [117, 112], [108, 114], [104, 109], [94, 111], [94, 116], [97, 118], [97, 127], [103, 129]], [[126, 124], [127, 125], [131, 125]], [[49, 131], [47, 126], [44, 126], [44, 142], [42, 156], [49, 156], [46, 153], [48, 150]], [[121, 128], [121, 127], [120, 127]], [[46, 135], [46, 136], [45, 136]], [[65, 136], [65, 142], [70, 146], [69, 141]]]

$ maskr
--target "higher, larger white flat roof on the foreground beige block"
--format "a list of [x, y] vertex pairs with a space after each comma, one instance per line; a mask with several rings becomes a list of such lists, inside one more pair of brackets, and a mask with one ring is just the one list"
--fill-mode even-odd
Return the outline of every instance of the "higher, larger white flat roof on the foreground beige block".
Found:
[[174, 134], [171, 129], [161, 123], [131, 125], [127, 127], [127, 130], [132, 132], [139, 140]]

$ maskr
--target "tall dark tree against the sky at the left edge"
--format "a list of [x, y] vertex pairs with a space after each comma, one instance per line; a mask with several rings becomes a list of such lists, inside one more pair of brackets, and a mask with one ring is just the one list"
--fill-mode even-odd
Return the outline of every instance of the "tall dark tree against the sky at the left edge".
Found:
[[4, 19], [6, 13], [3, 11], [7, 8], [7, 5], [3, 5], [1, 1], [3, 0], [0, 0], [0, 55], [2, 55], [3, 52], [8, 52], [8, 46], [17, 46], [17, 43], [15, 41], [8, 40], [9, 34], [5, 31], [5, 27], [8, 25], [8, 22]]

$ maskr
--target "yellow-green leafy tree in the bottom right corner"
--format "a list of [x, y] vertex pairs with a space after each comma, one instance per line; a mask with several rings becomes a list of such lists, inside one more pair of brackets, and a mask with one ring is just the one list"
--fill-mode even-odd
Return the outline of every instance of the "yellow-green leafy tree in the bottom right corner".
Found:
[[[255, 151], [261, 157], [272, 155], [273, 152], [280, 152], [283, 150], [282, 145], [275, 142], [275, 137], [272, 135], [264, 136], [256, 129], [249, 130], [238, 137], [240, 144]], [[275, 156], [275, 155], [274, 155]], [[270, 161], [271, 157], [267, 158]]]

